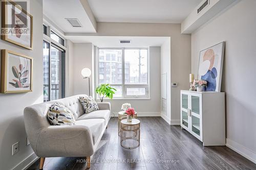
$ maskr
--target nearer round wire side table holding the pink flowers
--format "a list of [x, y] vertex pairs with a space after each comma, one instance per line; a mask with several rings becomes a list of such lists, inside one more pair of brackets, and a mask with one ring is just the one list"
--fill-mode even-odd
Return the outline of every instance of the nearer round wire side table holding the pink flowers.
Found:
[[140, 120], [133, 118], [132, 122], [121, 120], [120, 144], [126, 149], [135, 149], [140, 145]]

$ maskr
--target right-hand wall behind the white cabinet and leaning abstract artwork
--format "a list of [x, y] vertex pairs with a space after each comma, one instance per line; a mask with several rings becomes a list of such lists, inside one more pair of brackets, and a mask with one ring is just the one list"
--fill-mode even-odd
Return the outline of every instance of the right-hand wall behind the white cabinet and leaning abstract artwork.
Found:
[[234, 4], [191, 35], [191, 70], [197, 74], [199, 51], [226, 41], [222, 91], [226, 92], [228, 147], [256, 163], [256, 1]]

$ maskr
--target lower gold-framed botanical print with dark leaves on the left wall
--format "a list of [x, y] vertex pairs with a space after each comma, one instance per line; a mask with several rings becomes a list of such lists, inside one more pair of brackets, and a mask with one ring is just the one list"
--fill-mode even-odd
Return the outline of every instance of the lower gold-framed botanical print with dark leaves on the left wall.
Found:
[[9, 50], [2, 50], [1, 92], [32, 91], [33, 58]]

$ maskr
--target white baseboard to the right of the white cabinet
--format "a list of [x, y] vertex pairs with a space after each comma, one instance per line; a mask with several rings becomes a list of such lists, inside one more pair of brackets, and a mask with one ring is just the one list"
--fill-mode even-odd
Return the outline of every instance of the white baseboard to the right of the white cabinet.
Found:
[[256, 153], [229, 138], [226, 138], [226, 146], [240, 155], [256, 163]]

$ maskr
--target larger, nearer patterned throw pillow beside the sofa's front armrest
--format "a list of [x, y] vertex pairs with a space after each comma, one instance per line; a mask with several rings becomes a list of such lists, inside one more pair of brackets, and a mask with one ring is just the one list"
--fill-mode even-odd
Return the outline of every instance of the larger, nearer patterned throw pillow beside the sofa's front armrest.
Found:
[[75, 125], [76, 123], [73, 113], [58, 102], [49, 108], [47, 116], [52, 125]]

